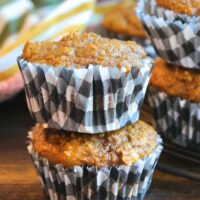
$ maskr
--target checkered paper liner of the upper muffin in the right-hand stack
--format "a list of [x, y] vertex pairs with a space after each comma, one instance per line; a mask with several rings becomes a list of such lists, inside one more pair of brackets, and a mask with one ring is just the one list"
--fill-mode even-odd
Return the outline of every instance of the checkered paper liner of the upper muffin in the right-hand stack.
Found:
[[170, 11], [159, 8], [152, 11], [146, 7], [141, 1], [136, 13], [158, 55], [168, 63], [200, 69], [200, 18], [180, 15], [170, 18]]

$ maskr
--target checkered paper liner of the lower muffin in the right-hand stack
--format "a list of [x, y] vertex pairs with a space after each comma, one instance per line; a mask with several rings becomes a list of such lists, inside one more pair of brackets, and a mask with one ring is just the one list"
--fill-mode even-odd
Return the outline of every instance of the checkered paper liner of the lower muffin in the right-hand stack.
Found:
[[155, 129], [163, 138], [200, 151], [200, 105], [170, 97], [153, 87], [148, 90]]

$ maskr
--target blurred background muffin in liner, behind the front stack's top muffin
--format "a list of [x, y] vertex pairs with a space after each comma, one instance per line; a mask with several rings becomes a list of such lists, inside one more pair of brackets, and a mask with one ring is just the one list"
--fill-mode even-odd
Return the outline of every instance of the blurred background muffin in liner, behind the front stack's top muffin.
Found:
[[144, 47], [149, 56], [156, 57], [151, 42], [134, 12], [136, 6], [136, 1], [119, 3], [112, 11], [105, 15], [102, 26], [108, 37], [137, 41]]

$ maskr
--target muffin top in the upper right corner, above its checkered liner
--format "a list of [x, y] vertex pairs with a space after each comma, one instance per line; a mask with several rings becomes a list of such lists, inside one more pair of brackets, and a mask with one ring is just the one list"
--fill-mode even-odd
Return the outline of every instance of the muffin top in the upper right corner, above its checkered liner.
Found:
[[156, 0], [161, 7], [176, 13], [200, 16], [200, 0]]

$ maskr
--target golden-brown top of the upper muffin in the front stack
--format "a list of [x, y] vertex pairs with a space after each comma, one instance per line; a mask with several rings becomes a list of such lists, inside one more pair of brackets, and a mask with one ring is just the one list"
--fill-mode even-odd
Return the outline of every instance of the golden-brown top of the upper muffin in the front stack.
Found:
[[125, 71], [140, 67], [145, 57], [143, 48], [133, 41], [102, 38], [94, 33], [70, 33], [56, 42], [28, 42], [22, 54], [26, 61], [54, 67], [85, 68], [94, 64]]

